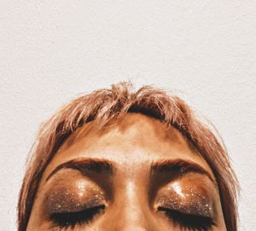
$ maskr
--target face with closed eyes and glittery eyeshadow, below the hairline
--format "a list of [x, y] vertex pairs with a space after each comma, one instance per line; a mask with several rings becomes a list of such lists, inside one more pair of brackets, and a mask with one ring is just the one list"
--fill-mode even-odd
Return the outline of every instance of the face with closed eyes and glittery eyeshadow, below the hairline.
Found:
[[139, 113], [95, 128], [55, 154], [26, 231], [226, 230], [212, 170], [176, 129]]

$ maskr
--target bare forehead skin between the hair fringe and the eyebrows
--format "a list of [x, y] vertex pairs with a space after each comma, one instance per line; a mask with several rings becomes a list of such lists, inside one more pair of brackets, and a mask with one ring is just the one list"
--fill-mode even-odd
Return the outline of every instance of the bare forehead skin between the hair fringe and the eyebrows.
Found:
[[127, 113], [118, 123], [101, 130], [95, 121], [84, 124], [55, 154], [46, 175], [57, 165], [76, 158], [108, 159], [130, 170], [158, 160], [183, 159], [212, 174], [206, 161], [179, 131], [141, 113]]

